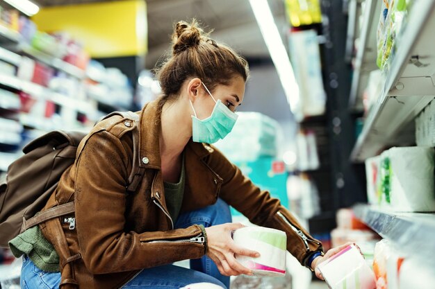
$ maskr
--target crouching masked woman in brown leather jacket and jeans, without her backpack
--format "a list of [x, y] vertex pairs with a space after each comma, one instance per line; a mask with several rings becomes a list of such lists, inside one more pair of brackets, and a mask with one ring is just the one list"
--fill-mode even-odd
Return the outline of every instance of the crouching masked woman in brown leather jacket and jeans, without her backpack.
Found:
[[[163, 96], [138, 113], [145, 169], [139, 189], [126, 193], [133, 125], [113, 116], [82, 141], [45, 208], [75, 202], [74, 215], [40, 226], [39, 242], [48, 240], [60, 260], [49, 258], [54, 251], [48, 245], [40, 249], [49, 255], [42, 261], [26, 254], [24, 288], [180, 288], [195, 282], [229, 288], [229, 276], [252, 274], [234, 255], [258, 252], [233, 243], [231, 231], [243, 225], [231, 223], [228, 204], [257, 225], [286, 231], [287, 249], [311, 270], [328, 257], [279, 200], [206, 144], [233, 128], [247, 62], [195, 21], [177, 24], [172, 48], [158, 69]], [[172, 265], [184, 259], [192, 269]], [[47, 264], [61, 273], [49, 272]]]

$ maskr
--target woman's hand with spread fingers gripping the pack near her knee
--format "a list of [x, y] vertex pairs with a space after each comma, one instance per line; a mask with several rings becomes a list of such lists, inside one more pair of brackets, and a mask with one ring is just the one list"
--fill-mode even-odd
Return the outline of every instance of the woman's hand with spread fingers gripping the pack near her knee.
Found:
[[215, 262], [220, 274], [236, 276], [240, 274], [252, 275], [249, 268], [238, 263], [234, 254], [259, 257], [258, 252], [239, 247], [231, 238], [231, 232], [245, 227], [240, 223], [227, 223], [206, 228], [208, 253], [207, 256]]

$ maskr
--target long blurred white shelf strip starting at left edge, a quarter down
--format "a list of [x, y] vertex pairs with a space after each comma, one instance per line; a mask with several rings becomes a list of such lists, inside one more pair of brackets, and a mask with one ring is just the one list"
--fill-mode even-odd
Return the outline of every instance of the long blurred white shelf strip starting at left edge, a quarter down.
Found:
[[58, 105], [70, 107], [85, 114], [92, 114], [95, 112], [95, 110], [92, 110], [91, 105], [86, 101], [76, 100], [74, 98], [64, 96], [63, 94], [58, 94], [57, 92], [51, 91], [50, 89], [42, 87], [41, 85], [35, 84], [33, 82], [20, 80], [16, 76], [0, 74], [0, 85], [24, 91], [32, 96], [50, 100]]

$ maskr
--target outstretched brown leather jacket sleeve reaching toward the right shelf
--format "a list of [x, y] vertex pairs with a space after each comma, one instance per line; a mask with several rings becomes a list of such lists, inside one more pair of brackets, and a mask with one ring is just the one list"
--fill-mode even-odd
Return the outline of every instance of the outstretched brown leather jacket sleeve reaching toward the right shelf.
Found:
[[223, 179], [220, 198], [243, 213], [250, 222], [285, 231], [288, 252], [295, 256], [299, 263], [306, 266], [311, 254], [323, 250], [322, 244], [297, 222], [278, 199], [272, 198], [268, 191], [262, 191], [255, 186], [237, 166], [222, 155], [222, 152], [214, 148], [214, 152], [206, 161]]

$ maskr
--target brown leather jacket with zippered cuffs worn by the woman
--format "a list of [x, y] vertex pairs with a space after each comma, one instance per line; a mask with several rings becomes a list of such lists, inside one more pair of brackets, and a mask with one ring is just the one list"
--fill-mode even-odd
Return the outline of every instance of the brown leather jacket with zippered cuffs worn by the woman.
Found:
[[[81, 142], [74, 166], [65, 171], [44, 208], [72, 200], [75, 204], [72, 216], [40, 225], [60, 255], [60, 288], [121, 288], [143, 268], [197, 259], [206, 253], [206, 245], [198, 241], [201, 238], [195, 238], [204, 236], [202, 229], [197, 225], [173, 229], [167, 213], [158, 100], [145, 105], [139, 125], [145, 177], [136, 193], [126, 193], [133, 159], [132, 126], [121, 116], [113, 116], [98, 123]], [[286, 231], [287, 249], [303, 265], [313, 251], [322, 249], [279, 200], [252, 184], [213, 146], [190, 140], [185, 164], [181, 212], [222, 198], [254, 224]]]

